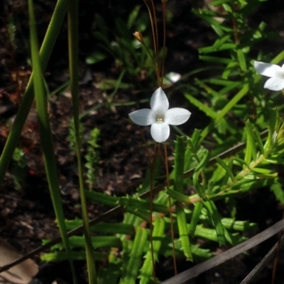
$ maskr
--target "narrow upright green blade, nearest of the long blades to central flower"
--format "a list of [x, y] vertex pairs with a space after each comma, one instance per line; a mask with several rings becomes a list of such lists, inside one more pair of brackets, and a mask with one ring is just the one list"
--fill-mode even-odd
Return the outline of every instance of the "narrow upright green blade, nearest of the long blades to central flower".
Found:
[[79, 118], [79, 70], [78, 70], [78, 0], [70, 1], [68, 6], [68, 47], [70, 65], [70, 89], [72, 93], [73, 116], [75, 125], [76, 154], [79, 170], [80, 198], [82, 205], [83, 232], [86, 246], [87, 271], [89, 284], [97, 284], [97, 272], [94, 262], [92, 239], [89, 230], [87, 203], [84, 193], [83, 165], [80, 154], [80, 118]]

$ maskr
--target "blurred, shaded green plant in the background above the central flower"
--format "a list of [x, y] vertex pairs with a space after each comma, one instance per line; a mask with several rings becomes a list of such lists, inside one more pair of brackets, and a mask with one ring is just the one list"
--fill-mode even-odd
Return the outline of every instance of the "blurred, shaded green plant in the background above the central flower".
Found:
[[[126, 70], [127, 76], [136, 82], [137, 79], [151, 76], [153, 72], [151, 56], [141, 42], [133, 37], [136, 30], [143, 32], [148, 27], [149, 20], [146, 13], [141, 13], [137, 6], [126, 21], [116, 18], [115, 28], [109, 28], [99, 14], [96, 14], [95, 21], [97, 29], [94, 32], [94, 38], [97, 39], [98, 44], [92, 55], [87, 57], [88, 64], [112, 57], [116, 66]], [[143, 40], [149, 46], [149, 39], [146, 37]]]

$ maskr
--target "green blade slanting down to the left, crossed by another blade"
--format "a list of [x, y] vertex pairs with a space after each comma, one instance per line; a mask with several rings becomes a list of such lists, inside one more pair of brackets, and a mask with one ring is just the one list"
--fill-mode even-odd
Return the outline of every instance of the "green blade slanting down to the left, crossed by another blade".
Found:
[[[48, 64], [51, 52], [53, 51], [53, 47], [58, 37], [60, 26], [62, 25], [66, 10], [67, 0], [58, 0], [58, 3], [55, 6], [53, 16], [50, 20], [50, 25], [48, 26], [48, 30], [45, 34], [43, 45], [40, 49], [40, 62], [43, 71], [45, 70], [46, 65]], [[28, 86], [23, 96], [23, 101], [21, 102], [21, 106], [18, 108], [18, 113], [11, 127], [11, 131], [9, 133], [8, 139], [0, 157], [0, 183], [3, 181], [6, 170], [8, 169], [10, 161], [13, 157], [13, 151], [16, 148], [18, 139], [21, 135], [21, 131], [23, 130], [23, 125], [26, 122], [28, 112], [30, 111], [31, 105], [33, 103], [33, 76], [34, 73], [31, 74], [31, 78], [28, 81]]]

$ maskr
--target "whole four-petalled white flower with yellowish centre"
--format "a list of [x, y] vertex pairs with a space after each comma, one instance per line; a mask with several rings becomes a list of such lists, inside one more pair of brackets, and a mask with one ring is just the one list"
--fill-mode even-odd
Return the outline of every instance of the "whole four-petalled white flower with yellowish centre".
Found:
[[185, 108], [170, 108], [168, 98], [162, 88], [154, 91], [150, 108], [142, 108], [129, 113], [129, 117], [141, 126], [151, 125], [151, 135], [155, 142], [165, 142], [170, 136], [169, 125], [180, 125], [190, 118]]

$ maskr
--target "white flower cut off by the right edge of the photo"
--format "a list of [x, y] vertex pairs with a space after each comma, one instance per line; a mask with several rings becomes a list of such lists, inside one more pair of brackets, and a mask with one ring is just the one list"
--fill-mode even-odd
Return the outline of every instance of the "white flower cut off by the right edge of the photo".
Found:
[[270, 77], [264, 84], [264, 88], [271, 91], [284, 89], [284, 64], [280, 67], [271, 63], [255, 61], [254, 68], [259, 74]]

